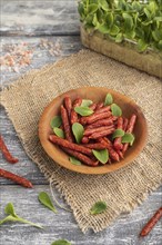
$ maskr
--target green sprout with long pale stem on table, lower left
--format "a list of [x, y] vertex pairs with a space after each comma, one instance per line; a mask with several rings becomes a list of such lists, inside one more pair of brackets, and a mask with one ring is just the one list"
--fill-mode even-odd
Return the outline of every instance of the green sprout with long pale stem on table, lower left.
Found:
[[7, 204], [7, 206], [6, 206], [6, 208], [4, 208], [4, 212], [6, 212], [6, 214], [8, 214], [9, 216], [7, 216], [6, 218], [1, 219], [1, 220], [0, 220], [0, 225], [4, 224], [4, 223], [7, 223], [7, 222], [20, 222], [20, 223], [24, 223], [24, 224], [29, 224], [29, 225], [31, 225], [31, 226], [34, 226], [34, 227], [37, 227], [37, 228], [43, 228], [43, 227], [40, 226], [40, 225], [37, 225], [37, 224], [32, 223], [32, 222], [29, 222], [29, 220], [27, 220], [27, 219], [21, 218], [20, 216], [18, 216], [18, 215], [16, 214], [16, 212], [14, 212], [14, 206], [13, 206], [12, 203], [8, 203], [8, 204]]

